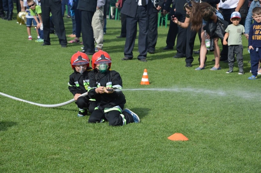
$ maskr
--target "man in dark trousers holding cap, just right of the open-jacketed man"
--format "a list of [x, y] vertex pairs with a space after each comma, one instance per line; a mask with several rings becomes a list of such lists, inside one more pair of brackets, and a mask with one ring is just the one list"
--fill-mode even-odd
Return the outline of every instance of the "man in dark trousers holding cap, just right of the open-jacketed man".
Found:
[[[154, 2], [154, 1], [153, 1]], [[164, 0], [159, 0], [158, 6], [161, 8], [164, 5]], [[153, 5], [153, 13], [149, 15], [149, 30], [148, 30], [148, 52], [155, 53], [155, 46], [158, 39], [158, 12], [159, 10]]]

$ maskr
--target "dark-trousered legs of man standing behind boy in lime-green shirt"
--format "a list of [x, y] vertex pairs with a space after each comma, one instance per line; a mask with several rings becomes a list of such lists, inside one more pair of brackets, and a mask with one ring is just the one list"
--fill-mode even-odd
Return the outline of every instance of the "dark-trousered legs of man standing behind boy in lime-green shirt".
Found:
[[62, 47], [66, 47], [67, 39], [65, 34], [65, 27], [62, 18], [62, 5], [61, 1], [41, 0], [42, 20], [44, 27], [44, 43], [45, 45], [51, 45], [50, 43], [50, 13], [52, 13], [52, 21], [55, 26], [55, 32], [59, 38], [59, 43]]

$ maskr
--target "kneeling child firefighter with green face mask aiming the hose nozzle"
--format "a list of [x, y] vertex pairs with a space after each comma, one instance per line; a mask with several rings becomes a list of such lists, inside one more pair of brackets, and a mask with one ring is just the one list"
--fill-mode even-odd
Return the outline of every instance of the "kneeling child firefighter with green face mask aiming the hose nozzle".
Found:
[[139, 123], [137, 114], [123, 109], [126, 99], [122, 93], [120, 74], [111, 70], [111, 57], [99, 50], [93, 54], [88, 96], [96, 100], [97, 107], [89, 117], [89, 123], [109, 121], [111, 126], [122, 126], [128, 123]]

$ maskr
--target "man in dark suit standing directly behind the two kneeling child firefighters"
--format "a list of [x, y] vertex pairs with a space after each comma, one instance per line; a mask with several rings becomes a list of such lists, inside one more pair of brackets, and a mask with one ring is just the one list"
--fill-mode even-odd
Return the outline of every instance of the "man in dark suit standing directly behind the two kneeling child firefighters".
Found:
[[84, 52], [87, 55], [93, 55], [95, 53], [92, 19], [96, 7], [97, 0], [79, 1], [77, 6], [77, 9], [81, 10], [81, 33], [84, 45], [81, 52]]

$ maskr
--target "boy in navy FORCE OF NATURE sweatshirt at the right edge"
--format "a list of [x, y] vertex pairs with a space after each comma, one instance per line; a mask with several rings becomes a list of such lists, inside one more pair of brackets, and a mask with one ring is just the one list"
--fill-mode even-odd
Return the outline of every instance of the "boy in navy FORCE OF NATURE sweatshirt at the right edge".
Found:
[[261, 7], [255, 7], [252, 11], [255, 22], [251, 25], [248, 38], [248, 49], [251, 58], [251, 73], [249, 80], [257, 78], [258, 63], [261, 57]]

